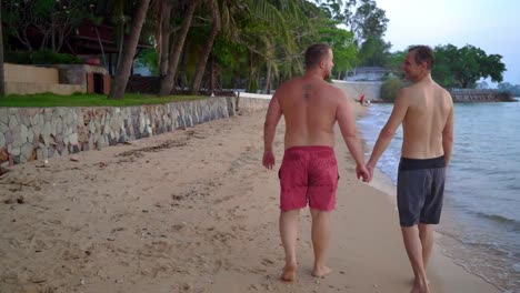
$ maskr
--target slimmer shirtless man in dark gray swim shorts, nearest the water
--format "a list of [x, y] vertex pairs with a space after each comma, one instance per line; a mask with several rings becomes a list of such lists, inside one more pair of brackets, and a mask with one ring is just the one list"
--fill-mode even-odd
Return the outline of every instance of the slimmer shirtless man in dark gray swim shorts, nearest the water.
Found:
[[398, 174], [398, 210], [404, 247], [413, 269], [412, 293], [430, 292], [426, 267], [433, 246], [433, 224], [442, 208], [446, 166], [453, 144], [453, 102], [431, 78], [433, 52], [409, 49], [402, 69], [413, 84], [401, 89], [367, 163], [373, 169], [402, 123], [403, 141]]

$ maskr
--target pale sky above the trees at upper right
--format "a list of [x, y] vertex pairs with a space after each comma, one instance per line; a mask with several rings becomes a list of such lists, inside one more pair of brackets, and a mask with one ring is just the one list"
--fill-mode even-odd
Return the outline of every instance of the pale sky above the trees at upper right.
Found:
[[376, 0], [389, 19], [391, 51], [410, 44], [472, 44], [502, 55], [503, 81], [520, 84], [520, 1]]

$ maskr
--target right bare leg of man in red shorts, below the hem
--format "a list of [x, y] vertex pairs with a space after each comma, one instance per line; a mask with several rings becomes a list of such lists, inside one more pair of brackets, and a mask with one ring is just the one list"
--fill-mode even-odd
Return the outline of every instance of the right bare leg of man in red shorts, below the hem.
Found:
[[330, 240], [330, 212], [310, 209], [312, 215], [312, 247], [314, 249], [313, 276], [324, 276], [331, 270], [326, 266], [327, 249]]

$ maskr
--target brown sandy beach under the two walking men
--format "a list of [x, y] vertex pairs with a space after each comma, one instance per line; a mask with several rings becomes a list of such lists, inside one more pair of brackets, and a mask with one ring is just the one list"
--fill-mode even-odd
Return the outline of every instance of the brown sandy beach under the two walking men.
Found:
[[[381, 175], [356, 179], [339, 134], [333, 272], [311, 276], [302, 210], [297, 280], [279, 280], [279, 182], [261, 165], [263, 118], [247, 113], [10, 168], [0, 176], [0, 293], [409, 292], [394, 191]], [[282, 138], [280, 125], [277, 170]], [[438, 245], [428, 274], [436, 293], [500, 292]]]

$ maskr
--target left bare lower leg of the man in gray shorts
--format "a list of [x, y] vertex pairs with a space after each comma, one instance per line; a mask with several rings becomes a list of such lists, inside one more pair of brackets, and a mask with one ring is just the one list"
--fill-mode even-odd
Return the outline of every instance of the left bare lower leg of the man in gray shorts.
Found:
[[416, 276], [411, 293], [428, 293], [430, 291], [428, 289], [424, 263], [422, 261], [422, 244], [419, 238], [419, 229], [417, 225], [401, 226], [401, 231], [408, 259], [410, 260], [413, 275]]

